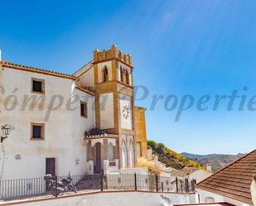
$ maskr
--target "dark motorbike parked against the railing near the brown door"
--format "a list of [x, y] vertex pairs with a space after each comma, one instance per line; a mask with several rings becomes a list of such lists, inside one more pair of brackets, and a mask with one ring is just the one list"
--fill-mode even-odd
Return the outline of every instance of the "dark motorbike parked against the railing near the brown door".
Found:
[[77, 189], [73, 184], [73, 179], [69, 173], [69, 175], [56, 182], [56, 177], [53, 177], [51, 174], [46, 175], [44, 178], [48, 184], [48, 189], [51, 190], [51, 194], [54, 196], [58, 196], [60, 193], [74, 191], [77, 193]]

